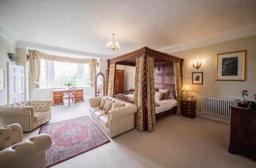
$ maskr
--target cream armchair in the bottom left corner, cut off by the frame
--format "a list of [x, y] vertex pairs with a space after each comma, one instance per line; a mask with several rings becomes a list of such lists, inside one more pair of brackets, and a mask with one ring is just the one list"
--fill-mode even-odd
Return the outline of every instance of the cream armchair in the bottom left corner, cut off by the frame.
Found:
[[23, 141], [22, 128], [11, 124], [0, 128], [0, 167], [46, 167], [49, 135], [39, 134]]

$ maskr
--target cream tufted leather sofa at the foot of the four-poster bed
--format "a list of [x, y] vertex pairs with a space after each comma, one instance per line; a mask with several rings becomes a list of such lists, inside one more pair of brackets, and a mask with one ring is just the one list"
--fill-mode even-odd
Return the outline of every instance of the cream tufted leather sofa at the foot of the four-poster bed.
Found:
[[104, 111], [99, 108], [102, 97], [90, 98], [89, 102], [92, 119], [112, 138], [134, 129], [134, 114], [137, 112], [137, 106], [113, 97], [109, 98], [115, 102], [124, 103], [125, 106], [111, 109], [108, 114], [104, 114]]

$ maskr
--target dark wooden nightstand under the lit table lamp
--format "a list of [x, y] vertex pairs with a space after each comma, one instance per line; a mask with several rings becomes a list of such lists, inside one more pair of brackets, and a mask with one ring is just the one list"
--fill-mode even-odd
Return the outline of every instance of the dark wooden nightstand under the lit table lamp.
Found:
[[181, 101], [181, 115], [194, 119], [196, 117], [196, 100], [185, 100]]

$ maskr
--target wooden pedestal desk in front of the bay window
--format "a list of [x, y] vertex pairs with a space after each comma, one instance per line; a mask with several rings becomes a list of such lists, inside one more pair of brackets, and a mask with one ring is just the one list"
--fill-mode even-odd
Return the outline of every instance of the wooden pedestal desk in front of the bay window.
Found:
[[[63, 93], [68, 93], [71, 92], [68, 89], [55, 89], [52, 90], [52, 99], [54, 101], [53, 105], [56, 104], [63, 104], [62, 102], [62, 94]], [[76, 103], [78, 101], [84, 101], [83, 100], [83, 89], [77, 88], [76, 89], [76, 98], [75, 98]]]

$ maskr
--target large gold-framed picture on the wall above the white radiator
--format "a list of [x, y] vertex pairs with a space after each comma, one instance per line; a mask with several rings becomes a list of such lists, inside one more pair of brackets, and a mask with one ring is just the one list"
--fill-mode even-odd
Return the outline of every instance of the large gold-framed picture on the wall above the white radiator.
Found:
[[217, 53], [215, 80], [245, 81], [246, 50]]

